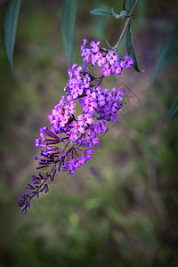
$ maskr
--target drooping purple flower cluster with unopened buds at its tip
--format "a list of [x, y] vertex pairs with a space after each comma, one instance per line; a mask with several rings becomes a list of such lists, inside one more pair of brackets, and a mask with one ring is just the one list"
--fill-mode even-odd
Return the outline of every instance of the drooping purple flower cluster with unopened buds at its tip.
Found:
[[[100, 144], [99, 134], [108, 131], [106, 122], [117, 121], [117, 110], [122, 108], [123, 90], [116, 87], [111, 91], [101, 88], [103, 77], [111, 74], [120, 75], [122, 69], [130, 68], [134, 60], [130, 56], [119, 59], [112, 50], [102, 49], [100, 42], [95, 43], [84, 38], [81, 45], [84, 66], [73, 66], [68, 70], [69, 82], [65, 86], [65, 95], [48, 115], [51, 130], [44, 126], [40, 129], [40, 138], [36, 139], [36, 147], [40, 147], [37, 170], [46, 168], [44, 175], [32, 176], [32, 184], [28, 184], [28, 194], [22, 195], [18, 206], [26, 213], [33, 197], [39, 197], [42, 191], [47, 192], [48, 181], [53, 181], [56, 172], [75, 174], [76, 169], [93, 157], [93, 147]], [[88, 46], [88, 47], [86, 47]], [[88, 66], [99, 66], [101, 76], [93, 77]], [[82, 109], [77, 113], [77, 104]]]

